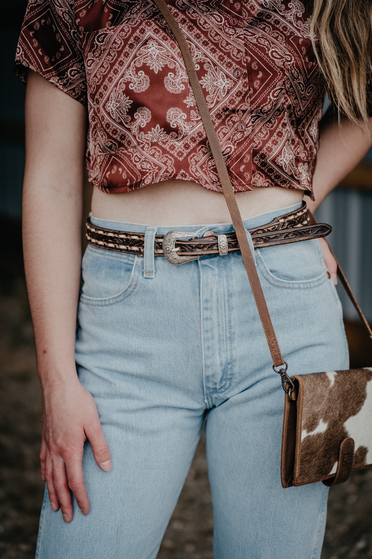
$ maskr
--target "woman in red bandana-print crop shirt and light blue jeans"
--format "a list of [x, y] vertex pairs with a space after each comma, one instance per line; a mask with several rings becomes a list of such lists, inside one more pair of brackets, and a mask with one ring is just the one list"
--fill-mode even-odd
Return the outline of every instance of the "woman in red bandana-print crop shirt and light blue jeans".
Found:
[[[252, 229], [306, 215], [304, 195], [315, 210], [371, 145], [371, 3], [167, 4], [253, 249]], [[239, 250], [172, 266], [157, 244], [233, 226], [156, 4], [30, 2], [16, 69], [44, 404], [37, 557], [156, 557], [205, 418], [215, 557], [320, 557], [327, 487], [281, 487], [283, 394]], [[319, 144], [326, 89], [341, 116], [321, 121]], [[98, 188], [79, 297], [85, 144]], [[289, 372], [347, 368], [325, 240], [253, 253]]]

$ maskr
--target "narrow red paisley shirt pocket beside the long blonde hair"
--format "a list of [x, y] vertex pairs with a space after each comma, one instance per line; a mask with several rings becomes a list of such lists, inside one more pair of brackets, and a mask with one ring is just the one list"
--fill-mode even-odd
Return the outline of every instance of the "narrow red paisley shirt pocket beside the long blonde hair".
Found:
[[284, 83], [289, 144], [298, 168], [298, 161], [316, 157], [324, 98], [311, 39], [287, 35]]

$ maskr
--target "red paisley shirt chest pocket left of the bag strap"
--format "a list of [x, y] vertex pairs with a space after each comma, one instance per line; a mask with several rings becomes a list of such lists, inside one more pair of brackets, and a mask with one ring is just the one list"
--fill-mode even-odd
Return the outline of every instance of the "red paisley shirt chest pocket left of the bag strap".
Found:
[[83, 33], [91, 135], [113, 153], [182, 141], [192, 93], [182, 55], [157, 15]]

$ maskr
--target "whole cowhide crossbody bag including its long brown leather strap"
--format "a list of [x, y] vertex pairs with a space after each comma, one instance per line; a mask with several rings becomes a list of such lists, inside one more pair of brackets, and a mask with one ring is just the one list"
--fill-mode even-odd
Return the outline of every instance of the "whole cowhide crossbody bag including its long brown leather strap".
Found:
[[[372, 466], [372, 367], [307, 375], [287, 374], [262, 287], [250, 252], [221, 146], [196, 74], [189, 47], [164, 0], [154, 0], [180, 47], [216, 170], [238, 238], [241, 256], [262, 321], [273, 369], [285, 394], [282, 439], [282, 486], [346, 481], [350, 472]], [[312, 224], [315, 220], [312, 218]], [[338, 266], [337, 273], [369, 337], [372, 331]]]

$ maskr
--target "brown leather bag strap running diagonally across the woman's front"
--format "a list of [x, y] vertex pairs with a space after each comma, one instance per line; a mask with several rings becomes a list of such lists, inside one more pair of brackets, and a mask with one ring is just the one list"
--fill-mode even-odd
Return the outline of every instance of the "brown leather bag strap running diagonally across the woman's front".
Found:
[[182, 34], [178, 23], [172, 16], [170, 9], [164, 0], [154, 0], [157, 7], [161, 11], [168, 26], [171, 28], [173, 36], [175, 37], [178, 46], [180, 47], [183, 61], [186, 66], [187, 74], [189, 75], [190, 84], [196, 101], [197, 108], [204, 125], [205, 133], [208, 139], [209, 147], [216, 165], [218, 176], [220, 178], [222, 190], [225, 195], [225, 200], [229, 208], [231, 220], [233, 221], [236, 237], [238, 238], [241, 256], [245, 270], [247, 271], [250, 286], [252, 288], [253, 296], [257, 305], [258, 313], [263, 325], [267, 343], [269, 346], [270, 354], [273, 359], [274, 366], [280, 367], [283, 365], [284, 359], [279, 348], [278, 340], [274, 332], [273, 324], [270, 319], [269, 311], [262, 291], [262, 287], [257, 275], [257, 270], [254, 264], [253, 255], [249, 248], [247, 233], [245, 232], [243, 221], [241, 220], [240, 211], [234, 196], [234, 189], [231, 185], [228, 169], [224, 160], [221, 146], [213, 125], [209, 108], [207, 106], [204, 93], [202, 92], [199, 78], [197, 77], [194, 61], [190, 54], [189, 46]]

